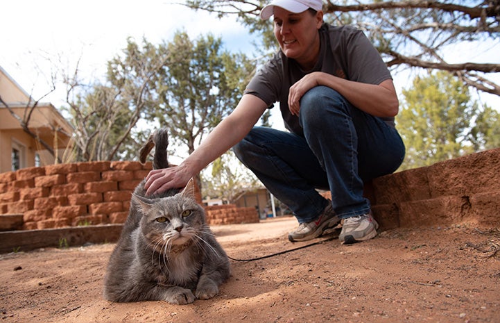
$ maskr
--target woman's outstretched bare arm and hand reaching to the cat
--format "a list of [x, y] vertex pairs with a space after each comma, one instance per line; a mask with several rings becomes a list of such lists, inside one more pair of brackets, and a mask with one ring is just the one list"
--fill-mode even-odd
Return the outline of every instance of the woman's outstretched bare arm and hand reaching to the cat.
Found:
[[182, 188], [191, 177], [198, 174], [216, 158], [225, 153], [234, 144], [240, 142], [257, 123], [267, 104], [252, 94], [245, 94], [236, 108], [228, 115], [200, 146], [180, 165], [153, 169], [146, 176], [146, 195], [164, 192], [169, 188]]

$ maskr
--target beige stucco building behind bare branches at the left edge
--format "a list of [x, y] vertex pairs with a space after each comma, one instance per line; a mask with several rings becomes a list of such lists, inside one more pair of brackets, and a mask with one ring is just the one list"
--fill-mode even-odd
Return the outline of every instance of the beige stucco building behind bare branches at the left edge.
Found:
[[[39, 102], [33, 108], [35, 101], [2, 67], [0, 98], [0, 173], [64, 159], [73, 128], [51, 103]], [[31, 134], [23, 129], [23, 122]]]

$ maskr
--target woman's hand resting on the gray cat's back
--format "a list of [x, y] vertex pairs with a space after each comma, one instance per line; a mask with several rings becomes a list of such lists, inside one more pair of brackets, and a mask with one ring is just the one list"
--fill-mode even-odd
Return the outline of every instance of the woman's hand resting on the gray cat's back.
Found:
[[182, 166], [174, 166], [162, 169], [153, 169], [146, 176], [146, 196], [153, 193], [161, 193], [169, 188], [184, 188], [193, 175]]

